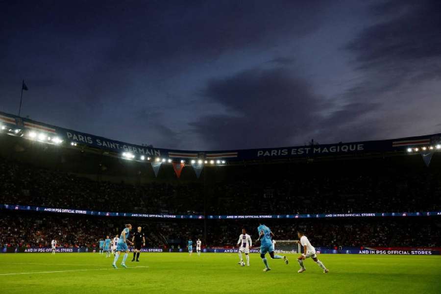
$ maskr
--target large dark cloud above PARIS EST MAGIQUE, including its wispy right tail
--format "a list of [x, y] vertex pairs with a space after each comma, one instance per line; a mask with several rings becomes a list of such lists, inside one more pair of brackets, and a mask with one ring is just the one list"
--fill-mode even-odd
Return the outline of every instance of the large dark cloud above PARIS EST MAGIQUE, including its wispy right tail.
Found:
[[[306, 80], [285, 68], [253, 69], [211, 80], [202, 94], [229, 114], [204, 116], [190, 125], [211, 148], [221, 149], [289, 146], [311, 138], [362, 139], [369, 132], [360, 132], [351, 123], [378, 107], [351, 103], [323, 116], [320, 113], [335, 104], [323, 103]], [[348, 129], [354, 130], [348, 132], [352, 137], [342, 135]]]

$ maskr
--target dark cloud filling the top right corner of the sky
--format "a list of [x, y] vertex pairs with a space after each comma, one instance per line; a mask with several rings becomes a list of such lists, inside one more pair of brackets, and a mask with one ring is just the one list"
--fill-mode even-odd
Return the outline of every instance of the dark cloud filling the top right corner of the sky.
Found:
[[409, 76], [426, 79], [428, 72], [441, 76], [441, 1], [391, 0], [372, 6], [372, 12], [380, 22], [346, 47], [359, 69], [386, 71], [396, 85]]

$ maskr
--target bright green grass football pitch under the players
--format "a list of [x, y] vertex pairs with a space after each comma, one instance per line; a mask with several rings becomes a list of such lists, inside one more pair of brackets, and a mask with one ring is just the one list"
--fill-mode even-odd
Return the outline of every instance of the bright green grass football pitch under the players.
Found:
[[0, 254], [0, 293], [441, 293], [441, 256], [321, 254], [327, 274], [311, 259], [297, 273], [296, 255], [288, 255], [289, 265], [269, 259], [269, 272], [258, 254], [250, 255], [250, 267], [227, 253], [131, 258], [129, 269], [115, 270], [113, 258], [98, 253]]

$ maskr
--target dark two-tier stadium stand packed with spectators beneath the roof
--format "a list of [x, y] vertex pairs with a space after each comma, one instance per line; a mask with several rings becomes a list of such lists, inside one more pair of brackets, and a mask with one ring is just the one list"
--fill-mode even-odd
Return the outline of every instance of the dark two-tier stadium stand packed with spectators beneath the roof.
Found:
[[[428, 212], [441, 210], [441, 155], [427, 167], [418, 153], [376, 152], [326, 158], [170, 164], [155, 176], [150, 163], [103, 150], [59, 147], [0, 134], [0, 204], [173, 215], [278, 215]], [[141, 225], [147, 246], [234, 246], [240, 229], [255, 237], [259, 221], [276, 239], [314, 232], [319, 246], [440, 246], [439, 217], [281, 220], [154, 220], [0, 210], [0, 246], [94, 247], [124, 223]], [[399, 232], [399, 233], [398, 233]]]

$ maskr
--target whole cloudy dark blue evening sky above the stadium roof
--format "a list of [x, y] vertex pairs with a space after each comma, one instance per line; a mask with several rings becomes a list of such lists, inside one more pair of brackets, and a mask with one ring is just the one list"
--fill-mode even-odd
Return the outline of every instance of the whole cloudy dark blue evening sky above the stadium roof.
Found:
[[0, 110], [134, 144], [441, 132], [440, 0], [0, 0]]

